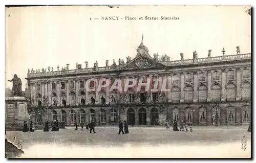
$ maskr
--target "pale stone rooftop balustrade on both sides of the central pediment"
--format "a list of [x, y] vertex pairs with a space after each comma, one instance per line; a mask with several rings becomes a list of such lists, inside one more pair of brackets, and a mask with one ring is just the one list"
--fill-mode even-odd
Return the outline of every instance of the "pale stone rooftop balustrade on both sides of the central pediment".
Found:
[[[221, 61], [244, 60], [244, 59], [250, 59], [250, 58], [251, 58], [251, 54], [248, 53], [248, 54], [217, 56], [217, 57], [198, 58], [198, 59], [167, 61], [167, 62], [160, 62], [160, 63], [170, 65], [170, 66], [175, 66], [175, 65], [189, 65], [189, 64], [197, 64], [197, 63], [212, 63], [212, 62], [221, 62]], [[119, 65], [111, 65], [108, 68], [107, 67], [96, 67], [96, 68], [91, 67], [91, 68], [52, 71], [52, 72], [29, 73], [28, 77], [56, 76], [56, 75], [62, 75], [62, 74], [79, 74], [79, 73], [91, 73], [91, 72], [104, 72], [104, 71], [116, 70], [118, 68], [119, 68]]]

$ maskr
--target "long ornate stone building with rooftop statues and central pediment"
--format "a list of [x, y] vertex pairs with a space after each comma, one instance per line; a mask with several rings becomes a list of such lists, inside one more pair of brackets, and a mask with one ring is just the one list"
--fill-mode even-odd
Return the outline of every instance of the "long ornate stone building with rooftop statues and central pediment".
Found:
[[[94, 67], [76, 64], [76, 69], [66, 67], [53, 71], [32, 69], [28, 71], [29, 112], [36, 122], [58, 119], [66, 125], [75, 122], [97, 125], [115, 125], [127, 120], [135, 125], [163, 125], [174, 119], [193, 125], [213, 125], [215, 116], [221, 125], [249, 124], [251, 117], [251, 54], [221, 55], [170, 61], [167, 55], [151, 57], [143, 41], [135, 58], [126, 62], [113, 60], [109, 65]], [[90, 78], [108, 78], [113, 84], [116, 78], [168, 78], [168, 92], [87, 91], [85, 84]], [[89, 87], [99, 83], [90, 82]], [[213, 116], [214, 115], [214, 116]]]

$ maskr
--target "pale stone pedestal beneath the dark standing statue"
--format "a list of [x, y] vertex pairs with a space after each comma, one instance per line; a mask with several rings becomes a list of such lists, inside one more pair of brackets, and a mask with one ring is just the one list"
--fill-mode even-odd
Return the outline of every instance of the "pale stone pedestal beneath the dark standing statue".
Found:
[[[6, 97], [5, 120], [6, 130], [22, 130], [24, 121], [29, 121], [28, 100], [25, 97]], [[29, 122], [28, 122], [29, 124]]]

